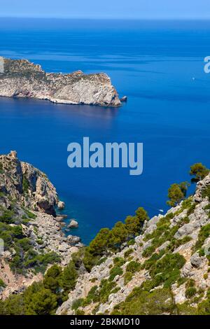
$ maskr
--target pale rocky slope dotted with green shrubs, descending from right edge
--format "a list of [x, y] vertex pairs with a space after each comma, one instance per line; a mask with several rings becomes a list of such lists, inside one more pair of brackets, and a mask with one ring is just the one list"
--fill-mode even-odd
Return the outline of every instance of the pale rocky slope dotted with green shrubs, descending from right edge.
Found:
[[134, 244], [79, 277], [57, 314], [207, 314], [210, 174], [193, 197], [144, 223]]

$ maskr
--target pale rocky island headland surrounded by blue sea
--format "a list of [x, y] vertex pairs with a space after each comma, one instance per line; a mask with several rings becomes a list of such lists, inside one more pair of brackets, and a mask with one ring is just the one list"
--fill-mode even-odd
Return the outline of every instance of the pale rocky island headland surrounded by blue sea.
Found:
[[120, 106], [118, 93], [105, 73], [45, 73], [41, 66], [25, 59], [3, 57], [1, 64], [0, 96], [33, 97], [63, 104]]

